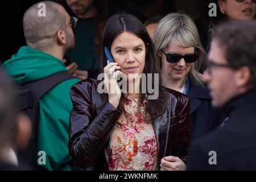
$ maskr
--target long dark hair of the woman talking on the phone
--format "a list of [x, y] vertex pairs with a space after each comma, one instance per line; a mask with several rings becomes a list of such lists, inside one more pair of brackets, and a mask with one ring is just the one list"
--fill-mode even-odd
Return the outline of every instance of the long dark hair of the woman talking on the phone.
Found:
[[[146, 96], [149, 96], [150, 93], [147, 94], [142, 93], [139, 98], [139, 107], [143, 105], [143, 101], [146, 101], [146, 115], [150, 115], [150, 121], [155, 121], [160, 115], [164, 113], [166, 110], [166, 96], [164, 94], [164, 89], [161, 86], [161, 75], [160, 75], [160, 66], [158, 61], [156, 60], [156, 54], [154, 50], [153, 43], [148, 35], [146, 28], [143, 26], [142, 22], [135, 18], [135, 16], [131, 14], [115, 14], [110, 17], [108, 22], [106, 22], [103, 35], [102, 35], [102, 46], [108, 47], [109, 49], [112, 46], [115, 38], [122, 32], [130, 32], [136, 35], [138, 38], [142, 39], [146, 46], [146, 57], [145, 57], [145, 66], [143, 69], [143, 73], [152, 73], [152, 88], [155, 88], [154, 85], [154, 74], [159, 75], [159, 97], [156, 100], [148, 100]], [[106, 56], [104, 53], [104, 49], [101, 50], [101, 71], [103, 72], [103, 68], [106, 66]], [[154, 93], [153, 93], [154, 94]], [[106, 97], [107, 95], [105, 94]], [[119, 102], [119, 109], [125, 112], [123, 107], [123, 103], [126, 98], [121, 97], [121, 101]]]

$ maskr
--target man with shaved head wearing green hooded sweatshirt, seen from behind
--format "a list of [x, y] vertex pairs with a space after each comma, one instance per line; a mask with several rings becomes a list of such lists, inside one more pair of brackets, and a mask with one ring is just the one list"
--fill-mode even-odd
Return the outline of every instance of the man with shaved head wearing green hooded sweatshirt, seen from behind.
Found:
[[[46, 16], [40, 16], [44, 7]], [[21, 47], [16, 55], [5, 61], [3, 68], [14, 80], [23, 83], [67, 72], [61, 60], [75, 45], [72, 28], [76, 26], [76, 20], [55, 2], [42, 1], [32, 5], [23, 16], [27, 46]], [[40, 154], [37, 161], [40, 168], [72, 169], [68, 151], [69, 113], [72, 109], [69, 90], [77, 81], [80, 80], [63, 81], [39, 99], [36, 150]]]

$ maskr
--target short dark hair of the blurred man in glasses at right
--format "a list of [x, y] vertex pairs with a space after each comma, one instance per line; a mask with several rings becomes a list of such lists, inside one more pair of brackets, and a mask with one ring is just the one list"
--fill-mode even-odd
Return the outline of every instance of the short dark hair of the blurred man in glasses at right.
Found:
[[251, 71], [250, 86], [256, 86], [256, 22], [233, 20], [220, 24], [214, 32], [219, 46], [224, 47], [228, 64]]

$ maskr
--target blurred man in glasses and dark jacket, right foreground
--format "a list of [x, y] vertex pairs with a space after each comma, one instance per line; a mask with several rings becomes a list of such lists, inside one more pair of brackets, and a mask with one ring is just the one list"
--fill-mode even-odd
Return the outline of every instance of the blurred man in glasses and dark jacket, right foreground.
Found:
[[224, 126], [195, 142], [188, 170], [256, 170], [256, 22], [221, 24], [213, 34], [204, 80]]

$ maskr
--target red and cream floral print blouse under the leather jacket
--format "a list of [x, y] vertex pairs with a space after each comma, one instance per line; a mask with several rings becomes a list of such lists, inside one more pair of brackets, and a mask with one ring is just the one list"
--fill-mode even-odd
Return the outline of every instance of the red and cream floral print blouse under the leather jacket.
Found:
[[112, 130], [108, 169], [157, 170], [157, 144], [151, 122], [144, 121], [146, 102], [138, 111], [138, 98], [125, 102], [123, 113]]

